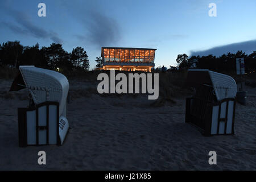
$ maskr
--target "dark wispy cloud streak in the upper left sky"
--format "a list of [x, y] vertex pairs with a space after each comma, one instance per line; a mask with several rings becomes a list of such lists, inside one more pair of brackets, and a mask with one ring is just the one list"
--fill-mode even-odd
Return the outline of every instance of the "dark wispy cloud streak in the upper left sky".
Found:
[[6, 12], [14, 18], [14, 23], [2, 22], [2, 24], [11, 31], [17, 34], [34, 36], [35, 38], [51, 39], [55, 43], [63, 42], [55, 32], [44, 30], [44, 28], [33, 24], [26, 13], [8, 7], [6, 7]]

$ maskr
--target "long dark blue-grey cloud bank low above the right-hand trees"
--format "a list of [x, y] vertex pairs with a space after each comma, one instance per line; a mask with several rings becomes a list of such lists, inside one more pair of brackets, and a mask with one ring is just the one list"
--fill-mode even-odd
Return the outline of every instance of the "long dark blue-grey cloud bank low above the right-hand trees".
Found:
[[246, 42], [240, 42], [240, 43], [233, 43], [228, 44], [225, 46], [218, 46], [213, 47], [207, 50], [203, 51], [191, 51], [191, 56], [207, 56], [207, 55], [214, 55], [214, 56], [221, 56], [224, 53], [236, 53], [237, 51], [243, 51], [247, 54], [252, 53], [253, 51], [256, 51], [256, 40], [249, 40]]

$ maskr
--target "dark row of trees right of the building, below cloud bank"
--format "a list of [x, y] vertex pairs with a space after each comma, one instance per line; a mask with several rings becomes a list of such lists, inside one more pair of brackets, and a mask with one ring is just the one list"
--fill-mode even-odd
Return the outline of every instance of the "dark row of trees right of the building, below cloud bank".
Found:
[[244, 58], [245, 71], [251, 72], [256, 70], [256, 51], [250, 55], [246, 55], [245, 52], [237, 51], [237, 53], [224, 54], [216, 57], [213, 55], [208, 56], [191, 56], [181, 54], [177, 56], [177, 67], [171, 67], [171, 70], [183, 70], [188, 68], [204, 68], [210, 69], [216, 72], [234, 72], [236, 71], [236, 59]]

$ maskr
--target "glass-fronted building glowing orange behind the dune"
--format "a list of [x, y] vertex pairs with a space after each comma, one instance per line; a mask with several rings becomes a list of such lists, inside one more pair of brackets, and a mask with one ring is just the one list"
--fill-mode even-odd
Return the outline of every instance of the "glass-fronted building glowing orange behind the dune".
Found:
[[155, 66], [155, 50], [147, 48], [102, 47], [104, 70], [151, 72]]

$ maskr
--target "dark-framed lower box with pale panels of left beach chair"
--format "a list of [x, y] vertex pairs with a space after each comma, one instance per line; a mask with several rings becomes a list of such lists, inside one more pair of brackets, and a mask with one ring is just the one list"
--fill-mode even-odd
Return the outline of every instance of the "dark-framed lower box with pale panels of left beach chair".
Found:
[[35, 107], [18, 108], [19, 147], [57, 144], [59, 102], [43, 102]]

